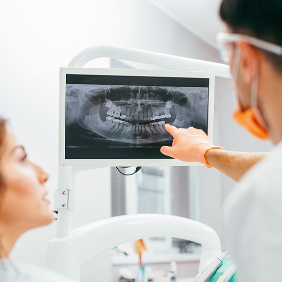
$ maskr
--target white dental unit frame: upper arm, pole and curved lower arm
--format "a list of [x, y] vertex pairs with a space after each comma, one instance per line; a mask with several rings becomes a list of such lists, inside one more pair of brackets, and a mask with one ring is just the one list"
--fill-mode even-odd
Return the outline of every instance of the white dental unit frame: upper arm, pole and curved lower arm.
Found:
[[[213, 72], [231, 78], [227, 65], [129, 48], [97, 46], [78, 53], [68, 67], [81, 68], [101, 57], [162, 66], [171, 70]], [[91, 258], [119, 244], [145, 237], [170, 236], [202, 245], [199, 271], [221, 254], [217, 233], [191, 219], [160, 214], [125, 215], [100, 220], [71, 230], [77, 173], [87, 167], [59, 167], [59, 189], [55, 191], [57, 237], [49, 242], [47, 266], [70, 278], [80, 279], [80, 267]]]

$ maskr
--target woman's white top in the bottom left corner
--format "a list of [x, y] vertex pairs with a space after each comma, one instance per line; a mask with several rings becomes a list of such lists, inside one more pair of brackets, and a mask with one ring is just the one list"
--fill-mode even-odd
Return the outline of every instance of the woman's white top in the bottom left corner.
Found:
[[29, 263], [0, 259], [0, 282], [75, 282], [58, 273]]

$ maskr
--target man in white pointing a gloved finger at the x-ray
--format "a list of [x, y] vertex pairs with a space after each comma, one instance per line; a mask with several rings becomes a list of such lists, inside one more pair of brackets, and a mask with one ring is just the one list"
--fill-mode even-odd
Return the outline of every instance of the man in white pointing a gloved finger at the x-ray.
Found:
[[[166, 125], [174, 137], [163, 154], [215, 167], [238, 188], [224, 208], [227, 247], [241, 282], [282, 281], [282, 1], [223, 0], [225, 33], [219, 51], [229, 61], [237, 93], [233, 118], [272, 154], [237, 153], [214, 146], [202, 130]], [[243, 176], [243, 177], [242, 177]]]

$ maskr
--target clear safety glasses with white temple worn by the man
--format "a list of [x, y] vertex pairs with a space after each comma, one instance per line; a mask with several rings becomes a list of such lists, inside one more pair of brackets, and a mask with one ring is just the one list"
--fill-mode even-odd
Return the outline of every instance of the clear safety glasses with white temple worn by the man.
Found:
[[275, 45], [248, 35], [219, 32], [217, 34], [218, 51], [223, 61], [227, 64], [229, 63], [231, 51], [228, 43], [234, 43], [237, 41], [245, 41], [253, 46], [256, 46], [257, 48], [282, 56], [282, 46]]

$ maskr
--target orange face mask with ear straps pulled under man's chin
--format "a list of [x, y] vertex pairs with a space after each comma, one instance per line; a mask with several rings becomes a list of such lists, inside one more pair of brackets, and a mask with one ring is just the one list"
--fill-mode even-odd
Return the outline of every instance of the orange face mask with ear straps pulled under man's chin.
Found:
[[[240, 60], [240, 50], [234, 47], [234, 82], [237, 83], [238, 71], [239, 71], [239, 60]], [[242, 106], [237, 97], [238, 108], [233, 113], [233, 118], [236, 122], [246, 128], [249, 132], [260, 139], [269, 139], [268, 132], [266, 130], [265, 123], [263, 121], [262, 115], [257, 108], [257, 82], [258, 82], [258, 71], [256, 76], [253, 78], [251, 86], [251, 107], [242, 110]], [[236, 90], [237, 87], [235, 87]], [[237, 92], [237, 90], [236, 90]], [[236, 93], [235, 92], [235, 93]]]

